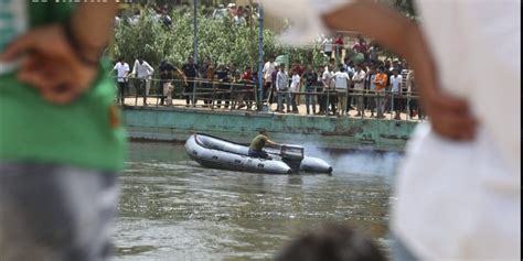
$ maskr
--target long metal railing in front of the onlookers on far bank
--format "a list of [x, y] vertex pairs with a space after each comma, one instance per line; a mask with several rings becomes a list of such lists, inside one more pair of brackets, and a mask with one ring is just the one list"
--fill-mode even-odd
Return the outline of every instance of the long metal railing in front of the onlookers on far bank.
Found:
[[[163, 91], [163, 84], [169, 83], [172, 86], [172, 91]], [[149, 88], [147, 88], [149, 85]], [[117, 88], [118, 85], [116, 85]], [[210, 79], [139, 79], [128, 78], [128, 89], [120, 93], [117, 91], [115, 97], [117, 102], [129, 105], [128, 99], [134, 98], [132, 106], [145, 106], [149, 99], [156, 98], [153, 105], [149, 106], [172, 106], [172, 107], [190, 107], [190, 108], [205, 108], [210, 110], [265, 110], [278, 112], [282, 110], [281, 106], [277, 106], [278, 96], [281, 100], [290, 99], [289, 102], [285, 100], [286, 106], [300, 107], [306, 105], [310, 111], [318, 111], [323, 116], [343, 117], [344, 111], [356, 110], [360, 113], [357, 117], [364, 118], [369, 112], [376, 113], [377, 118], [394, 119], [395, 115], [391, 112], [399, 112], [406, 115], [404, 120], [413, 120], [412, 112], [415, 110], [418, 113], [418, 120], [423, 120], [423, 108], [419, 105], [419, 96], [417, 93], [408, 91], [391, 91], [391, 90], [370, 90], [370, 89], [354, 89], [346, 90], [323, 88], [323, 86], [302, 87], [305, 91], [277, 91], [275, 88], [264, 90], [264, 97], [259, 96], [259, 89], [256, 84], [245, 83], [230, 83]], [[149, 93], [147, 93], [149, 89]], [[171, 104], [168, 96], [172, 97]], [[139, 102], [142, 99], [145, 102]], [[342, 102], [340, 99], [346, 99]], [[166, 104], [168, 101], [168, 104]], [[203, 101], [203, 102], [202, 102]], [[307, 106], [309, 104], [309, 106]], [[274, 106], [276, 105], [276, 109]], [[339, 108], [345, 106], [345, 108]], [[380, 108], [381, 106], [381, 108]], [[280, 108], [278, 108], [280, 107]], [[312, 108], [313, 107], [313, 108]], [[290, 108], [287, 108], [288, 111]], [[295, 108], [292, 108], [295, 109]], [[303, 109], [301, 106], [298, 109]], [[341, 110], [340, 110], [341, 109]], [[292, 110], [291, 110], [292, 111]], [[396, 118], [397, 119], [397, 118]]]

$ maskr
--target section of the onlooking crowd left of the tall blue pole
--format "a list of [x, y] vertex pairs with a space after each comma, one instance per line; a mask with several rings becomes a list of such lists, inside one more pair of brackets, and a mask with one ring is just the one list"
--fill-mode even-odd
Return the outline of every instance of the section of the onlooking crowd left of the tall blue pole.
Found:
[[[136, 94], [143, 97], [143, 106], [148, 106], [147, 97], [150, 96], [152, 83], [157, 89], [159, 105], [171, 106], [174, 96], [183, 96], [186, 106], [195, 106], [198, 100], [203, 100], [203, 106], [209, 107], [215, 102], [216, 108], [248, 110], [255, 105], [255, 84], [257, 70], [246, 66], [238, 69], [236, 64], [214, 65], [210, 57], [202, 64], [196, 64], [192, 56], [188, 57], [181, 68], [168, 61], [162, 61], [158, 67], [158, 76], [153, 79], [154, 69], [143, 59], [135, 61], [132, 69], [119, 58], [114, 66], [118, 81], [118, 102], [125, 104], [129, 94], [129, 79], [132, 79]], [[178, 83], [178, 84], [175, 84]], [[180, 93], [174, 91], [175, 86], [181, 86]], [[234, 89], [234, 90], [233, 90]], [[234, 105], [231, 105], [234, 101]]]

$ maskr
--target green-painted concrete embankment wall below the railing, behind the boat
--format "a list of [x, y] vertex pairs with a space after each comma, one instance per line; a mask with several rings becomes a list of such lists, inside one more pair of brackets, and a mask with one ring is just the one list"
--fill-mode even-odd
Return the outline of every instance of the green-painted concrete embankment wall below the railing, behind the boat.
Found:
[[184, 142], [192, 133], [206, 133], [248, 143], [265, 128], [270, 139], [334, 150], [402, 151], [416, 122], [246, 111], [129, 107], [122, 120], [134, 140]]

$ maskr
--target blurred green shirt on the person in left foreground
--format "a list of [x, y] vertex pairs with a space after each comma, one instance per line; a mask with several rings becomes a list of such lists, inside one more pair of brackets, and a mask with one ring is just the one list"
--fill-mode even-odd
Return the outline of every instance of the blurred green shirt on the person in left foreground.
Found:
[[[17, 2], [22, 1], [0, 0], [8, 7]], [[32, 3], [26, 0], [22, 6], [29, 14], [29, 28], [63, 22], [74, 10], [72, 3], [54, 1]], [[9, 24], [2, 19], [11, 17], [2, 13], [0, 11], [0, 24]], [[6, 42], [6, 39], [0, 39], [0, 52], [4, 48], [1, 41]], [[126, 134], [116, 123], [119, 111], [114, 105], [115, 84], [108, 77], [109, 70], [108, 61], [102, 62], [90, 89], [65, 106], [45, 101], [35, 88], [17, 79], [17, 72], [0, 72], [0, 161], [120, 170]]]

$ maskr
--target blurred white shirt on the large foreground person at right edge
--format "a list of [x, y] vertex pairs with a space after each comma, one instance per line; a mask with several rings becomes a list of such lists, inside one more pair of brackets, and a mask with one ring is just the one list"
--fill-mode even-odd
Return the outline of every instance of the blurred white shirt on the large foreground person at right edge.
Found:
[[397, 176], [393, 233], [421, 260], [520, 260], [521, 2], [417, 7], [440, 86], [466, 99], [479, 124], [472, 142], [416, 127]]

